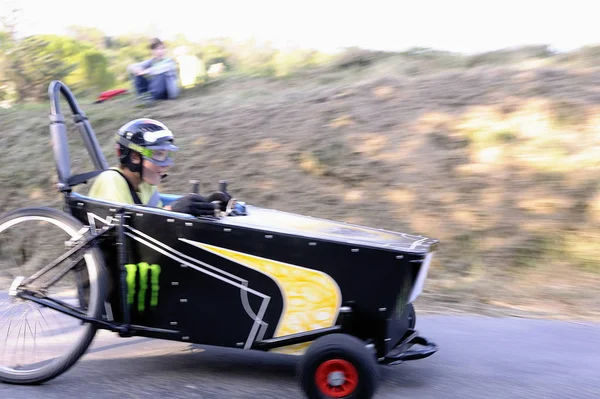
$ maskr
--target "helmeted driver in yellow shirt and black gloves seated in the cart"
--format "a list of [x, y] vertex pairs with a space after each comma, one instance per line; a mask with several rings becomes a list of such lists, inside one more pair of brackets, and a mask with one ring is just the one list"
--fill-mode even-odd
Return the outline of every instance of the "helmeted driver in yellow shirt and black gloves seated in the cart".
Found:
[[116, 142], [119, 167], [100, 173], [94, 179], [88, 196], [194, 216], [214, 216], [220, 210], [225, 210], [231, 200], [231, 196], [220, 191], [208, 198], [188, 194], [163, 207], [156, 186], [166, 176], [169, 166], [173, 165], [172, 154], [178, 150], [173, 144], [173, 133], [163, 123], [147, 118], [132, 120], [119, 129]]

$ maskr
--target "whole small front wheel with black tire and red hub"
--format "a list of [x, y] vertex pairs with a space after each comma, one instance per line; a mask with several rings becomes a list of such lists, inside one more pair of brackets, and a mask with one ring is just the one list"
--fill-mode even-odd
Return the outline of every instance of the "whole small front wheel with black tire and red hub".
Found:
[[309, 399], [372, 398], [378, 364], [365, 343], [345, 334], [317, 339], [298, 365], [300, 387]]

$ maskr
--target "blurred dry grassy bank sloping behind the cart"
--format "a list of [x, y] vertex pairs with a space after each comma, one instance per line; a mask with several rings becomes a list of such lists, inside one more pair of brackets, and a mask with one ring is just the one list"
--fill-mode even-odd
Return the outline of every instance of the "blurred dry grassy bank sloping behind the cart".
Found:
[[[111, 164], [128, 120], [175, 132], [181, 151], [162, 191], [199, 179], [206, 193], [225, 179], [251, 204], [440, 239], [424, 311], [600, 318], [600, 97], [576, 87], [586, 80], [568, 65], [359, 61], [222, 77], [148, 109], [127, 96], [80, 103]], [[59, 204], [47, 113], [0, 110], [2, 210]], [[83, 172], [91, 165], [69, 134]]]

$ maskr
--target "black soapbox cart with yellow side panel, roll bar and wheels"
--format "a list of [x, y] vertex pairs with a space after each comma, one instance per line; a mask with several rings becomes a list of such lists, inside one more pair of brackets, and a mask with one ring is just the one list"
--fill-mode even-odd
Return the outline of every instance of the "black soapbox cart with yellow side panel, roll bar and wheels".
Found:
[[[61, 94], [93, 171], [71, 174]], [[301, 355], [298, 381], [310, 398], [372, 397], [381, 365], [436, 352], [415, 330], [412, 302], [422, 291], [437, 240], [243, 203], [236, 212], [193, 217], [86, 197], [73, 187], [107, 169], [107, 162], [69, 88], [53, 81], [49, 96], [64, 209], [8, 212], [0, 219], [0, 237], [37, 221], [68, 239], [57, 259], [30, 275], [13, 276], [0, 302], [54, 311], [75, 320], [84, 333], [68, 341], [65, 355], [31, 369], [2, 361], [1, 381], [31, 384], [57, 377], [85, 353], [98, 329]], [[161, 194], [164, 205], [176, 198]], [[49, 295], [49, 287], [69, 273], [76, 277], [77, 300]], [[34, 325], [37, 330], [28, 323], [19, 335], [33, 334]]]

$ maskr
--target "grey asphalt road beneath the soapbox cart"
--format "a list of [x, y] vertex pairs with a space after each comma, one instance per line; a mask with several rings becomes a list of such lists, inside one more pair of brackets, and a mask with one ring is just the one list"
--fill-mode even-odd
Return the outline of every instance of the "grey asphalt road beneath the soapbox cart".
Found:
[[[384, 369], [376, 398], [600, 398], [600, 324], [420, 316], [417, 327], [440, 350]], [[303, 398], [296, 361], [102, 332], [67, 373], [0, 384], [0, 398]]]

